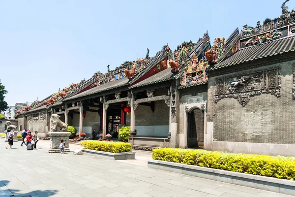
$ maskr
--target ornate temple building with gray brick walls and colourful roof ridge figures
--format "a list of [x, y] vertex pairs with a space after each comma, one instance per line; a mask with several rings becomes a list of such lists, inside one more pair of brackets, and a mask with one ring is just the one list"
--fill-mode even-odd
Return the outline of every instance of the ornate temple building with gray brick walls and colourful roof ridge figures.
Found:
[[295, 11], [283, 4], [280, 17], [236, 28], [212, 46], [205, 33], [96, 72], [19, 110], [18, 124], [45, 137], [56, 113], [89, 136], [94, 128], [105, 137], [130, 126], [134, 149], [295, 156], [294, 57]]

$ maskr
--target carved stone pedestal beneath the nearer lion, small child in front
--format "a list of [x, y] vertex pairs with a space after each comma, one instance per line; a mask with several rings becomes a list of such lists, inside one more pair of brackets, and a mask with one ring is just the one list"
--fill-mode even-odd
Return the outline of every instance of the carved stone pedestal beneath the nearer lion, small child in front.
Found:
[[69, 136], [71, 135], [70, 132], [63, 132], [63, 131], [50, 131], [50, 149], [48, 150], [49, 153], [60, 153], [60, 140], [63, 139], [65, 142], [64, 152], [70, 152], [69, 149]]

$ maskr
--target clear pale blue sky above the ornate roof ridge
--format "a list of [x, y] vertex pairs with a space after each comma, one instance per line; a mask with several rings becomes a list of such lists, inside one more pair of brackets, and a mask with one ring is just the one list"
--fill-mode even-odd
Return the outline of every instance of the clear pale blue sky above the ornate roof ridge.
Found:
[[[166, 43], [198, 41], [208, 30], [228, 37], [236, 27], [281, 15], [284, 0], [2, 0], [0, 80], [9, 105], [39, 100], [70, 83]], [[286, 3], [295, 8], [295, 0]]]

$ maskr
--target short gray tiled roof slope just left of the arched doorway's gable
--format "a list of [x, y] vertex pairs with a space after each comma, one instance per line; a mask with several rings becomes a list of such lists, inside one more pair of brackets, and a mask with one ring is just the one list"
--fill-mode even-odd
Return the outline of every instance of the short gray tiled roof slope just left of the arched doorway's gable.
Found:
[[136, 88], [136, 87], [141, 87], [149, 84], [154, 84], [154, 83], [159, 83], [163, 81], [168, 81], [172, 78], [173, 73], [171, 72], [171, 68], [166, 68], [165, 70], [162, 70], [147, 79], [129, 87], [129, 89]]

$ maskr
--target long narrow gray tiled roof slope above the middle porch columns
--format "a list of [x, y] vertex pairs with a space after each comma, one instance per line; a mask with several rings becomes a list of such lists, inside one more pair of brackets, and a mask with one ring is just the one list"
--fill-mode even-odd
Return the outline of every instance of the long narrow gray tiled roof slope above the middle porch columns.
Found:
[[64, 99], [64, 100], [77, 99], [77, 98], [85, 97], [85, 96], [88, 96], [88, 95], [96, 94], [96, 93], [99, 93], [99, 92], [104, 92], [104, 91], [107, 91], [107, 90], [110, 90], [110, 89], [119, 88], [119, 87], [122, 87], [122, 86], [125, 86], [125, 85], [128, 85], [128, 84], [129, 84], [129, 79], [122, 78], [122, 79], [118, 79], [116, 81], [111, 81], [111, 82], [96, 86], [94, 88], [91, 88], [90, 90], [79, 93], [79, 94], [77, 94], [77, 95], [75, 95], [73, 97], [70, 97], [70, 98]]

